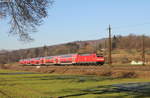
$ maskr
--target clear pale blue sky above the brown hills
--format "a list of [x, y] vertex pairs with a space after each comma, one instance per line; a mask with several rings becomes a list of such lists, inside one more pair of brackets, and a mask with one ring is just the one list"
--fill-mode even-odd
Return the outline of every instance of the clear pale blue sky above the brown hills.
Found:
[[112, 35], [150, 35], [150, 0], [55, 0], [49, 16], [31, 36], [33, 42], [22, 43], [10, 36], [9, 24], [0, 20], [0, 49], [16, 50], [72, 41], [95, 40]]

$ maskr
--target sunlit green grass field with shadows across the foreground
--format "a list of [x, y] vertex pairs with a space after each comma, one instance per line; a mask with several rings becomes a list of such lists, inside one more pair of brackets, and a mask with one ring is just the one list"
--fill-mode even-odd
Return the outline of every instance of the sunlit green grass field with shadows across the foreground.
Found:
[[0, 70], [0, 98], [148, 98], [150, 85], [142, 85], [142, 89], [139, 86], [133, 91], [113, 85], [136, 82], [150, 82], [150, 79]]

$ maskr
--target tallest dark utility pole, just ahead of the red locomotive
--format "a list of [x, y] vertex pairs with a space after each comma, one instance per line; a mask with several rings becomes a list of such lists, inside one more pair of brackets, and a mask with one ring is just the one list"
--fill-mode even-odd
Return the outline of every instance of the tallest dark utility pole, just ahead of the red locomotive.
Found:
[[112, 64], [112, 58], [111, 58], [111, 50], [112, 50], [112, 43], [111, 43], [111, 26], [109, 25], [109, 28], [108, 28], [108, 32], [109, 32], [109, 54], [108, 54], [108, 62], [109, 62], [109, 65]]

